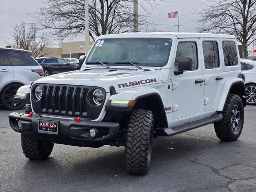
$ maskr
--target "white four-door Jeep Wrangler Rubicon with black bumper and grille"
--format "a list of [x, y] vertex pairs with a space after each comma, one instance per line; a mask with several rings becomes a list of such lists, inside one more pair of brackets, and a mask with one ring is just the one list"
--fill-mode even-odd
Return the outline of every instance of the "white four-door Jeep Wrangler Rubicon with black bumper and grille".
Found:
[[82, 62], [81, 70], [18, 90], [16, 99], [32, 108], [9, 114], [9, 122], [27, 158], [46, 159], [54, 143], [125, 146], [127, 172], [146, 174], [156, 136], [211, 123], [221, 140], [242, 132], [246, 98], [234, 36], [102, 35]]

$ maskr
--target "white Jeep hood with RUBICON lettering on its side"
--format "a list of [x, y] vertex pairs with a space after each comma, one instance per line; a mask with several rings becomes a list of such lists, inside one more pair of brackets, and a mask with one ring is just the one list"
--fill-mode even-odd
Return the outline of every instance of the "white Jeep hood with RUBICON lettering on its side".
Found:
[[109, 70], [111, 69], [93, 68], [92, 70], [65, 72], [40, 78], [34, 83], [97, 86], [104, 88], [106, 92], [109, 92], [110, 86], [120, 90], [160, 83], [160, 70]]

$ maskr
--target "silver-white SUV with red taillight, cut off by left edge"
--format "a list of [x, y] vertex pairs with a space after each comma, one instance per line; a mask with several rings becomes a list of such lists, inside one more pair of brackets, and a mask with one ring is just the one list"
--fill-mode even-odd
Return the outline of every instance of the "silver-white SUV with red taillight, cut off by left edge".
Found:
[[42, 67], [31, 54], [31, 51], [0, 48], [0, 103], [7, 110], [23, 108], [26, 103], [14, 100], [16, 91], [43, 76]]

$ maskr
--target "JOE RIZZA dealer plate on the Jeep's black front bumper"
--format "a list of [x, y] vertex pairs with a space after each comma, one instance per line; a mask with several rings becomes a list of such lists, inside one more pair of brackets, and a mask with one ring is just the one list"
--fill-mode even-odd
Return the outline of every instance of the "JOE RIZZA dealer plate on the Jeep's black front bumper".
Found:
[[58, 134], [59, 121], [52, 120], [38, 120], [38, 133], [47, 133], [47, 134]]

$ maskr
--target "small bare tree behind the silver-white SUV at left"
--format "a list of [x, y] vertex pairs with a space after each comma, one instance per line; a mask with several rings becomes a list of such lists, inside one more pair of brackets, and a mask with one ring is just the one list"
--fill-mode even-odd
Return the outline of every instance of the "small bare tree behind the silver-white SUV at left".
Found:
[[24, 50], [31, 50], [32, 57], [41, 57], [48, 55], [50, 52], [49, 48], [52, 45], [49, 35], [41, 34], [42, 37], [37, 38], [34, 30], [26, 29], [26, 25], [22, 22], [19, 25], [14, 26], [14, 31], [11, 33], [13, 40], [12, 42], [5, 42], [12, 48], [19, 48]]

